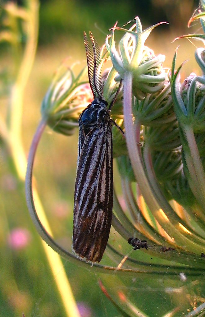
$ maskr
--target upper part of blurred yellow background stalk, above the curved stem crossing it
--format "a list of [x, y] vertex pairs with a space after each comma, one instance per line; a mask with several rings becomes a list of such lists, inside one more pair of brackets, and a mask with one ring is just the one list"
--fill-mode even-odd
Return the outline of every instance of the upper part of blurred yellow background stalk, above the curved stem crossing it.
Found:
[[11, 89], [9, 108], [9, 134], [10, 148], [15, 161], [17, 173], [24, 180], [26, 157], [22, 145], [22, 107], [25, 87], [33, 66], [38, 38], [38, 0], [31, 0], [27, 21], [27, 42], [23, 52], [21, 64], [19, 66], [16, 81]]

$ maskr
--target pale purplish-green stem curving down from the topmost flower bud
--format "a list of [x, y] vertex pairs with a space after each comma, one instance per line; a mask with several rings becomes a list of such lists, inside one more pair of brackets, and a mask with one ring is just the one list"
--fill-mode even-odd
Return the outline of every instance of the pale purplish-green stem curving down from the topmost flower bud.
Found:
[[[139, 154], [139, 139], [136, 139], [136, 134], [133, 128], [132, 74], [129, 72], [125, 73], [124, 76], [123, 107], [127, 148], [134, 175], [136, 177], [137, 183], [139, 185], [139, 188], [142, 192], [146, 204], [148, 205], [149, 209], [151, 210], [152, 214], [154, 215], [158, 223], [167, 232], [167, 234], [172, 237], [172, 241], [174, 244], [178, 245], [179, 247], [183, 246], [183, 249], [186, 251], [192, 251], [201, 254], [202, 249], [205, 250], [205, 246], [201, 243], [199, 244], [195, 241], [192, 241], [193, 237], [190, 235], [188, 231], [184, 230], [184, 228], [180, 225], [179, 222], [170, 221], [168, 215], [166, 215], [165, 213], [166, 210], [162, 209], [164, 206], [161, 205], [158, 197], [156, 196], [154, 190], [151, 187], [150, 182], [148, 181], [143, 164], [141, 162], [141, 155]], [[135, 118], [135, 120], [137, 120], [137, 118]]]

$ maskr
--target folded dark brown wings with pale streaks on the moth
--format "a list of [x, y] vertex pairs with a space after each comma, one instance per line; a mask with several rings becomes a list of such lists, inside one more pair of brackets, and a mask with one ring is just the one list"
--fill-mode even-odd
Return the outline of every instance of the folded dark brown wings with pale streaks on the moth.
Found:
[[79, 146], [74, 195], [73, 249], [99, 262], [112, 221], [112, 132], [110, 122], [93, 127]]

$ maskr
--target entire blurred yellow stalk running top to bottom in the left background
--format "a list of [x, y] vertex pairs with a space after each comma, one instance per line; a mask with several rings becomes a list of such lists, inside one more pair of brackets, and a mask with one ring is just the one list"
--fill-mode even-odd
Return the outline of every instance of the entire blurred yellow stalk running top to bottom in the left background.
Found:
[[[17, 177], [24, 181], [26, 172], [26, 156], [22, 144], [22, 110], [25, 88], [28, 82], [31, 68], [33, 66], [37, 37], [38, 37], [38, 8], [37, 0], [28, 1], [26, 20], [24, 21], [27, 30], [27, 41], [23, 50], [22, 61], [18, 65], [18, 74], [16, 81], [11, 88], [10, 107], [8, 108], [8, 126], [7, 130], [1, 130], [3, 141], [8, 146], [12, 164], [15, 167]], [[36, 194], [37, 203], [40, 205], [40, 200]], [[42, 209], [43, 214], [43, 209]], [[51, 271], [55, 277], [57, 289], [61, 296], [63, 307], [66, 315], [69, 317], [80, 316], [73, 299], [73, 294], [70, 289], [65, 270], [63, 268], [60, 257], [49, 249], [45, 243], [43, 248], [48, 259]]]

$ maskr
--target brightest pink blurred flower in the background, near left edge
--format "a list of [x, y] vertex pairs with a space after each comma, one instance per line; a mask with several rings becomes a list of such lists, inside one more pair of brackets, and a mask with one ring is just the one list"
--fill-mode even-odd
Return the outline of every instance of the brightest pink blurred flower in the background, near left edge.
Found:
[[7, 237], [7, 242], [11, 249], [23, 249], [30, 242], [31, 236], [27, 229], [15, 228], [11, 230]]

